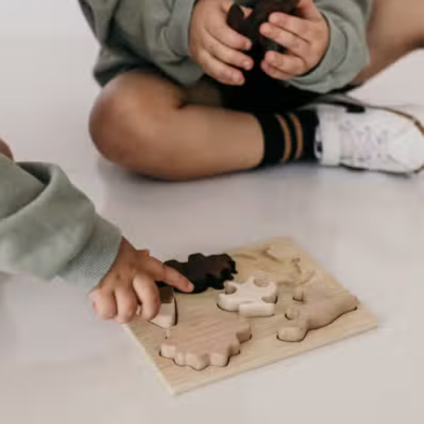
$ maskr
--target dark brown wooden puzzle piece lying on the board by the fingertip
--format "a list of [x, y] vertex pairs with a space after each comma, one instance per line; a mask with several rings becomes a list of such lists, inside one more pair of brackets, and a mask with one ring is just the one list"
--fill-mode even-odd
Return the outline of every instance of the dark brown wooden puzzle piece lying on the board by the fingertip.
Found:
[[213, 254], [206, 257], [204, 254], [195, 253], [189, 256], [187, 262], [167, 261], [165, 265], [176, 269], [194, 284], [193, 294], [202, 293], [209, 287], [216, 290], [224, 288], [224, 281], [232, 280], [235, 261], [228, 254]]

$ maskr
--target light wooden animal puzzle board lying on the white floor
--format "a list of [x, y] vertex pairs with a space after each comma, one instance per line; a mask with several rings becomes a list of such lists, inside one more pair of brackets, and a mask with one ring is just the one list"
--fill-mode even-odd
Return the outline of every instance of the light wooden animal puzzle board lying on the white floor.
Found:
[[[240, 317], [240, 312], [222, 310], [217, 298], [225, 291], [206, 288], [196, 295], [175, 293], [178, 319], [170, 329], [141, 317], [126, 325], [172, 393], [236, 376], [377, 326], [367, 307], [289, 238], [228, 250], [223, 258], [227, 273], [235, 269], [233, 259], [237, 261], [237, 281], [253, 276], [259, 278], [259, 285], [275, 283], [276, 303], [268, 304], [273, 315]], [[204, 278], [204, 272], [199, 274]], [[216, 275], [222, 278], [220, 272]], [[229, 284], [236, 287], [235, 293], [243, 285]], [[272, 289], [268, 300], [275, 300], [273, 285], [268, 288]], [[237, 308], [243, 309], [242, 305], [238, 302]]]

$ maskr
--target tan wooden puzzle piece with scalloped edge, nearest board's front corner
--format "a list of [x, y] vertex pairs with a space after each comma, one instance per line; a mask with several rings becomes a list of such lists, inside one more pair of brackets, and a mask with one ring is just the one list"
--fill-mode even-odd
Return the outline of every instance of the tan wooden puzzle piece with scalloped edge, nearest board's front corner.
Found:
[[160, 355], [195, 370], [204, 370], [209, 365], [225, 367], [231, 356], [240, 353], [240, 343], [251, 336], [250, 324], [244, 319], [202, 317], [171, 329], [160, 346]]

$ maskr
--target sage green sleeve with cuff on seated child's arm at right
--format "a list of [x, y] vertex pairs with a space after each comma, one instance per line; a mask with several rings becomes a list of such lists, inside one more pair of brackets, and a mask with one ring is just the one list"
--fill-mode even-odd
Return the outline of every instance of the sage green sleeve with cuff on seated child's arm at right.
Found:
[[329, 47], [321, 63], [290, 83], [304, 90], [328, 93], [351, 83], [369, 62], [367, 20], [371, 0], [316, 0], [329, 25]]

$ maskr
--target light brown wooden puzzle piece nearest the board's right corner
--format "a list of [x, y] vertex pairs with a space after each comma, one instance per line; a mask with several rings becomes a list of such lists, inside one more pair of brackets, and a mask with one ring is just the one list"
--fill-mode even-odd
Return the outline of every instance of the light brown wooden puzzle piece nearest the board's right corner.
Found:
[[302, 305], [292, 305], [285, 313], [288, 322], [278, 330], [278, 338], [282, 341], [302, 341], [308, 331], [331, 324], [359, 304], [358, 298], [350, 293], [331, 293], [314, 286], [297, 288], [293, 300]]

